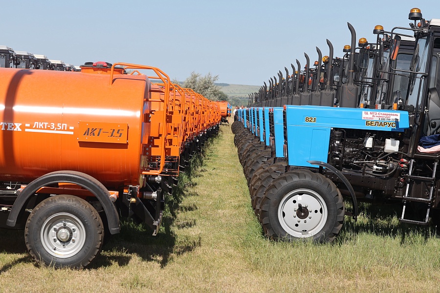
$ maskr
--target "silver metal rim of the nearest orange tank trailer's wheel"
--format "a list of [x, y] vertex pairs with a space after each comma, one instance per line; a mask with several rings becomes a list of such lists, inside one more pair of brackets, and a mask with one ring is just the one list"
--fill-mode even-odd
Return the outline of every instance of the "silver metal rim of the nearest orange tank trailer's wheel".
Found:
[[42, 226], [40, 236], [44, 249], [59, 258], [75, 255], [86, 241], [83, 224], [69, 213], [57, 213], [49, 217]]

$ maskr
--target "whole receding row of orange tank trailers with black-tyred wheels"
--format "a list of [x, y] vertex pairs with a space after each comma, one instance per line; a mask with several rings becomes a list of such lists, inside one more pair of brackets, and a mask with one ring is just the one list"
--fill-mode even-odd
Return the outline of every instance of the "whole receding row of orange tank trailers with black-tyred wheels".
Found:
[[87, 266], [120, 216], [157, 234], [165, 193], [228, 115], [153, 66], [80, 67], [0, 68], [0, 225], [55, 267]]

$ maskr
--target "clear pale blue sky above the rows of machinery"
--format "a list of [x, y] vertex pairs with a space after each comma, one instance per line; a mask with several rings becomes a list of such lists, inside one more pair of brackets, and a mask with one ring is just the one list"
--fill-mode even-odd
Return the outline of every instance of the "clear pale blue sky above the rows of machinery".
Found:
[[440, 19], [433, 0], [14, 0], [2, 3], [0, 44], [75, 65], [138, 63], [180, 81], [195, 71], [263, 85], [295, 59], [303, 65], [304, 52], [315, 61], [316, 46], [327, 55], [326, 39], [342, 57], [347, 22], [373, 41], [376, 24], [407, 27], [413, 7]]

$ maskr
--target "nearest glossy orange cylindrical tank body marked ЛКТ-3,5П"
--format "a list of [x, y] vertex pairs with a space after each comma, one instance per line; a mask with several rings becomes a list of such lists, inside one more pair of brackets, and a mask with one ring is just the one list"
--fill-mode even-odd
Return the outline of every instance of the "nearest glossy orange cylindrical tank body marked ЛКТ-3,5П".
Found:
[[0, 180], [75, 170], [108, 188], [139, 184], [150, 82], [88, 72], [0, 68]]

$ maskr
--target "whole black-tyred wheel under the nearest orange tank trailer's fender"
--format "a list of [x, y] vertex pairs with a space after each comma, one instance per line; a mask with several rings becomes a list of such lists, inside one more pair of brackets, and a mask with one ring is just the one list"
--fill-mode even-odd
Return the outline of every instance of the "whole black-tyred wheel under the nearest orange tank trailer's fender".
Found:
[[82, 268], [101, 251], [104, 226], [98, 212], [73, 195], [51, 196], [29, 215], [24, 229], [27, 249], [38, 263]]

